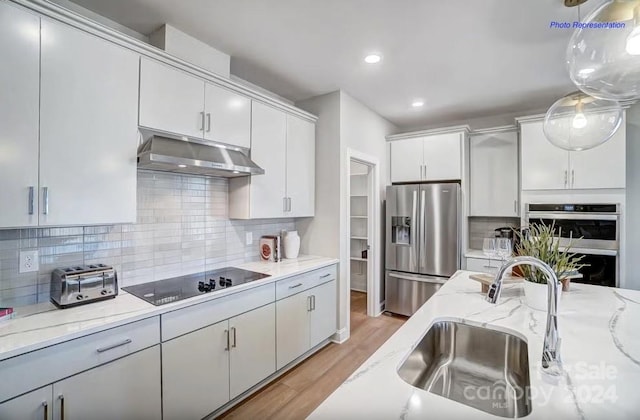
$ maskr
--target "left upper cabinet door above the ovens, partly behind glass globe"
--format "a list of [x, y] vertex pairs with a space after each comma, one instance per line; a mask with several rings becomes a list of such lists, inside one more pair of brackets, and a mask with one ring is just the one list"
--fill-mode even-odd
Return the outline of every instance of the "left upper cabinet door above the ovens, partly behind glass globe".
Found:
[[523, 190], [569, 187], [569, 153], [547, 140], [542, 121], [520, 125], [520, 156]]

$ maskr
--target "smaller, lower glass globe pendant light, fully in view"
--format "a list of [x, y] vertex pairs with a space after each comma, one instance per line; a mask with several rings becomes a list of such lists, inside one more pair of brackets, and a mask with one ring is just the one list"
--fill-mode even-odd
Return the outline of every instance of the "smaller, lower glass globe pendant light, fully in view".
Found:
[[609, 140], [622, 123], [622, 107], [581, 91], [554, 103], [544, 117], [545, 137], [565, 150], [588, 150]]

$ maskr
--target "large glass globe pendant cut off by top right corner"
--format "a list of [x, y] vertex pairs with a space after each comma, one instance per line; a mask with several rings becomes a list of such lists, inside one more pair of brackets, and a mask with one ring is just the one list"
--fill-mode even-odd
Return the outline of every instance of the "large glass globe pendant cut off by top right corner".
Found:
[[640, 0], [608, 0], [587, 16], [571, 37], [567, 65], [593, 97], [640, 99]]

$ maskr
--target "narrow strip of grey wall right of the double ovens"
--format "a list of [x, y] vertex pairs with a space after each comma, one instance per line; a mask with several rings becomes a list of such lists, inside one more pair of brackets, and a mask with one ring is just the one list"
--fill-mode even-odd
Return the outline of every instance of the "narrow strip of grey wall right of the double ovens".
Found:
[[640, 290], [640, 105], [627, 111], [626, 278], [624, 287]]

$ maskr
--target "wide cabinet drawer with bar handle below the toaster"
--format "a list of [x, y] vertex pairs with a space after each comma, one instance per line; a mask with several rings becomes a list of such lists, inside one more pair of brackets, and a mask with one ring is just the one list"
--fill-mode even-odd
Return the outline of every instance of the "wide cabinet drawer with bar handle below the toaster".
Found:
[[159, 317], [76, 338], [0, 362], [0, 401], [160, 342]]

